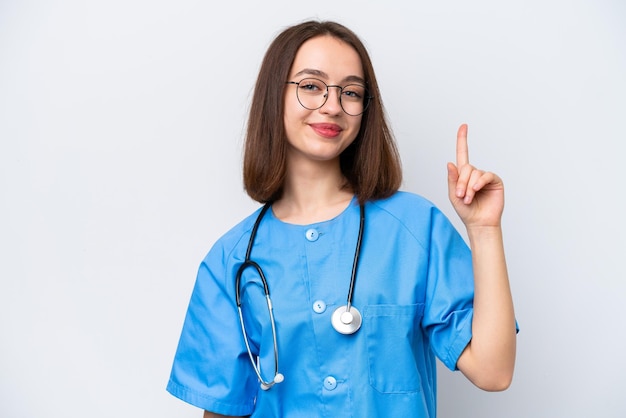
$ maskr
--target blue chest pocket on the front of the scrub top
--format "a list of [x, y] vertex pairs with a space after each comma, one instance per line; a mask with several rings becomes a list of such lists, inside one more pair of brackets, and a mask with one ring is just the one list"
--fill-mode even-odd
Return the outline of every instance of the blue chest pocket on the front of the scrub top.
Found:
[[369, 305], [364, 310], [370, 385], [381, 393], [421, 390], [414, 350], [424, 304]]

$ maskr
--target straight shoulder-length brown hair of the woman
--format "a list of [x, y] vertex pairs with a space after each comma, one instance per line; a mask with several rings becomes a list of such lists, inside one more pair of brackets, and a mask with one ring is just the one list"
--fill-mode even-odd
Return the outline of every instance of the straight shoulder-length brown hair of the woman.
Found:
[[271, 43], [256, 81], [244, 149], [246, 192], [262, 203], [280, 199], [286, 173], [287, 141], [283, 121], [285, 81], [300, 46], [330, 35], [355, 49], [373, 96], [352, 144], [340, 156], [341, 170], [359, 202], [389, 197], [400, 187], [402, 170], [393, 135], [387, 125], [369, 54], [356, 34], [328, 21], [291, 26]]

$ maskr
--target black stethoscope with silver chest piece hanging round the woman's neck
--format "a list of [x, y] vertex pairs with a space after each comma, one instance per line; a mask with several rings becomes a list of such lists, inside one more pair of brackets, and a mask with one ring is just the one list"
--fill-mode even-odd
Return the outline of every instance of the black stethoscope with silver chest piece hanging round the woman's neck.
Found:
[[[241, 332], [243, 334], [243, 340], [246, 343], [246, 350], [248, 350], [248, 357], [250, 357], [250, 362], [252, 363], [252, 367], [254, 368], [254, 372], [261, 382], [261, 389], [268, 390], [276, 383], [280, 383], [285, 380], [285, 376], [278, 371], [278, 342], [276, 338], [276, 323], [274, 322], [274, 312], [272, 307], [272, 300], [270, 299], [270, 289], [267, 285], [267, 280], [265, 278], [265, 274], [263, 273], [263, 269], [258, 265], [254, 260], [250, 259], [250, 254], [252, 253], [252, 246], [254, 245], [254, 239], [256, 238], [256, 232], [259, 228], [259, 224], [261, 223], [261, 219], [265, 215], [265, 212], [270, 208], [271, 203], [266, 203], [261, 209], [261, 213], [257, 217], [254, 222], [254, 226], [252, 227], [252, 232], [250, 234], [250, 240], [248, 241], [248, 249], [246, 250], [246, 258], [244, 262], [239, 266], [237, 270], [237, 275], [235, 276], [235, 299], [237, 302], [237, 311], [239, 312], [239, 322], [241, 323]], [[359, 253], [361, 252], [361, 242], [363, 240], [363, 225], [365, 224], [365, 207], [360, 205], [360, 221], [359, 221], [359, 235], [356, 241], [356, 249], [354, 251], [354, 261], [352, 262], [352, 275], [350, 277], [350, 288], [348, 289], [348, 300], [347, 303], [343, 306], [338, 307], [333, 312], [330, 322], [335, 328], [337, 332], [340, 334], [354, 334], [361, 328], [361, 323], [363, 319], [361, 317], [361, 313], [357, 308], [352, 306], [352, 295], [354, 293], [354, 283], [356, 281], [356, 272], [357, 266], [359, 263]], [[250, 341], [248, 340], [248, 333], [246, 332], [246, 326], [243, 321], [243, 313], [241, 309], [241, 275], [244, 270], [248, 267], [253, 267], [259, 277], [261, 282], [263, 283], [263, 291], [265, 293], [265, 300], [267, 302], [267, 311], [269, 312], [270, 324], [272, 327], [272, 339], [274, 343], [274, 378], [270, 381], [266, 381], [261, 376], [261, 368], [260, 368], [260, 360], [256, 358], [252, 354], [252, 350], [250, 349]]]

